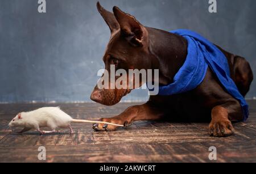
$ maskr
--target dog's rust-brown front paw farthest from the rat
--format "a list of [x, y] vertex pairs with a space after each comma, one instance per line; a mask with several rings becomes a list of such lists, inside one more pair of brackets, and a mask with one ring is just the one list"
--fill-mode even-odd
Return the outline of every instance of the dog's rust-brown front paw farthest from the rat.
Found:
[[211, 121], [209, 134], [214, 137], [227, 137], [234, 133], [234, 128], [229, 120]]

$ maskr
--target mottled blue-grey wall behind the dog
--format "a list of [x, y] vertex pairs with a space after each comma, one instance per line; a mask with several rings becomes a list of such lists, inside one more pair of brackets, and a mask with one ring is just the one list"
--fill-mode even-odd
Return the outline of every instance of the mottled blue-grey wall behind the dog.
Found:
[[[93, 0], [48, 0], [39, 14], [37, 0], [0, 1], [0, 102], [90, 101], [110, 32]], [[251, 63], [256, 74], [256, 1], [102, 0], [137, 17], [144, 25], [192, 29]], [[256, 96], [254, 81], [247, 97]], [[146, 100], [134, 91], [125, 100]]]

